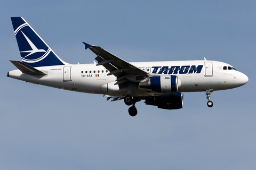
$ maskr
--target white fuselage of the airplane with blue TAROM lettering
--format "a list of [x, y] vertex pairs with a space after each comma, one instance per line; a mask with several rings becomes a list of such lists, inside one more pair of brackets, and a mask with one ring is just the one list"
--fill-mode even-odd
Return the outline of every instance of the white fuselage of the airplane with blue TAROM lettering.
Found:
[[[225, 90], [243, 86], [248, 78], [245, 74], [233, 70], [231, 65], [217, 61], [170, 61], [131, 63], [141, 70], [161, 75], [177, 75], [178, 92]], [[223, 68], [227, 68], [223, 70]], [[233, 68], [228, 70], [228, 68]], [[46, 75], [29, 75], [20, 70], [9, 72], [9, 77], [44, 86], [110, 96], [126, 96], [126, 87], [119, 90], [114, 75], [103, 66], [96, 64], [70, 64], [35, 67]], [[158, 96], [164, 93], [151, 89], [135, 88], [132, 96]]]

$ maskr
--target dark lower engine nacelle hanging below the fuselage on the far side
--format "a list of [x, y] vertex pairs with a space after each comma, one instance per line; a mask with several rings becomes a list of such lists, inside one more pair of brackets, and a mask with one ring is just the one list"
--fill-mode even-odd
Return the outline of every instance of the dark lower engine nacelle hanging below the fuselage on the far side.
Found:
[[146, 105], [157, 106], [163, 109], [179, 109], [183, 107], [183, 94], [177, 92], [176, 94], [155, 96], [146, 99]]

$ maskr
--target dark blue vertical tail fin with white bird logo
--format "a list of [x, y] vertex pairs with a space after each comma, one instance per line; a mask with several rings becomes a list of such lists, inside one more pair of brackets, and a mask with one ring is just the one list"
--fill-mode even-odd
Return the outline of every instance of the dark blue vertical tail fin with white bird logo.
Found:
[[31, 67], [65, 65], [57, 54], [21, 17], [11, 17], [15, 37], [23, 63]]

